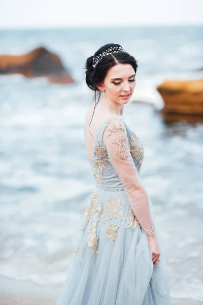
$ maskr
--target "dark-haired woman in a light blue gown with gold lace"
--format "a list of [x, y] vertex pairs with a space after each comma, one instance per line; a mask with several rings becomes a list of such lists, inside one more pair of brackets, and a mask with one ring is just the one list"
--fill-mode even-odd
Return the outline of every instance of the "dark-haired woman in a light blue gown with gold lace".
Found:
[[96, 186], [57, 305], [170, 304], [153, 207], [140, 180], [144, 147], [123, 118], [137, 67], [118, 44], [87, 58], [86, 83], [94, 91], [94, 105], [84, 133]]

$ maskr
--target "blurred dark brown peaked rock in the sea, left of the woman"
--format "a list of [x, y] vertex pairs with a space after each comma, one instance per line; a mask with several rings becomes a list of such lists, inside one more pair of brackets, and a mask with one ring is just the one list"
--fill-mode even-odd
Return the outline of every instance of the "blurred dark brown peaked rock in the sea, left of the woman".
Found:
[[14, 73], [25, 77], [48, 77], [51, 83], [74, 83], [60, 57], [44, 47], [23, 55], [0, 55], [0, 74]]

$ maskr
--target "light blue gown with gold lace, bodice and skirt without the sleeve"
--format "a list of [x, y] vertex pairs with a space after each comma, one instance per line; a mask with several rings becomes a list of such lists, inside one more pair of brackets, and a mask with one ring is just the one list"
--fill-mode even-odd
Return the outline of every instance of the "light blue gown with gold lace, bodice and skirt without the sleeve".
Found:
[[[95, 138], [90, 163], [96, 186], [87, 200], [78, 248], [56, 305], [169, 305], [168, 270], [157, 229], [160, 262], [153, 267], [147, 235], [132, 214], [103, 142], [106, 125], [107, 121]], [[144, 147], [126, 124], [125, 128], [140, 175]], [[149, 195], [148, 199], [154, 221]]]

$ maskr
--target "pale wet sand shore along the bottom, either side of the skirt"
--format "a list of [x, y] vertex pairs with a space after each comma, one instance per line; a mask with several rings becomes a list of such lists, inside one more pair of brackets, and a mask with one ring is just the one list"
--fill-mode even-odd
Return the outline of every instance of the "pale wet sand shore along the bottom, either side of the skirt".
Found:
[[[62, 286], [43, 286], [0, 276], [0, 305], [55, 305]], [[202, 301], [172, 298], [172, 305], [202, 305]]]

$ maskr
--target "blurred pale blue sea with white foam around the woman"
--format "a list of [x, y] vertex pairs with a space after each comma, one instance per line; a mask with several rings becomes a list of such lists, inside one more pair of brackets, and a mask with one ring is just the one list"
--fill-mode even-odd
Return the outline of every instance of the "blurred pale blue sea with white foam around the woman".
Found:
[[84, 114], [93, 95], [86, 58], [119, 43], [138, 60], [137, 85], [124, 109], [141, 138], [141, 179], [150, 194], [170, 272], [171, 295], [203, 301], [203, 119], [165, 123], [156, 86], [199, 79], [203, 26], [1, 30], [0, 54], [44, 46], [76, 83], [0, 76], [0, 276], [62, 285], [94, 178]]

